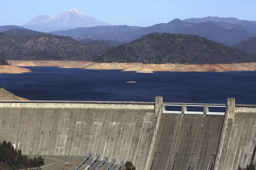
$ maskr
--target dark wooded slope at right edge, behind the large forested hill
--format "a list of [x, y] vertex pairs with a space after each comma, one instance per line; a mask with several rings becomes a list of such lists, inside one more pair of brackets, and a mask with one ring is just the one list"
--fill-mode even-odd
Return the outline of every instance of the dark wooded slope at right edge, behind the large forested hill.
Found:
[[239, 50], [242, 50], [251, 54], [256, 54], [256, 37], [255, 36], [251, 37], [248, 40], [236, 43], [231, 47], [237, 48]]

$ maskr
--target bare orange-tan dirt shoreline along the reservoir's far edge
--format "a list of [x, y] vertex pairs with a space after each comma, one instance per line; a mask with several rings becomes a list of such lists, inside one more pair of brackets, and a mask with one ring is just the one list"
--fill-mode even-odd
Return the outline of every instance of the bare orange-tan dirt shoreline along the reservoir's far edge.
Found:
[[171, 72], [226, 72], [226, 71], [255, 71], [256, 62], [233, 63], [216, 65], [189, 64], [142, 64], [142, 63], [93, 63], [90, 61], [24, 61], [12, 60], [11, 66], [0, 66], [0, 73], [25, 73], [29, 69], [17, 66], [57, 66], [60, 68], [84, 68], [96, 70], [118, 69], [135, 71], [137, 73], [154, 73], [156, 71]]

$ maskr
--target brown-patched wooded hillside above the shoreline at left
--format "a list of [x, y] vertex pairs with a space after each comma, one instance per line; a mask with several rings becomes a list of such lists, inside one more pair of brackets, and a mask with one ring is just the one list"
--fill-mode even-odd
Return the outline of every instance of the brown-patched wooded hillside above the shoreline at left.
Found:
[[13, 37], [0, 33], [0, 55], [10, 60], [86, 59], [87, 47], [67, 36]]

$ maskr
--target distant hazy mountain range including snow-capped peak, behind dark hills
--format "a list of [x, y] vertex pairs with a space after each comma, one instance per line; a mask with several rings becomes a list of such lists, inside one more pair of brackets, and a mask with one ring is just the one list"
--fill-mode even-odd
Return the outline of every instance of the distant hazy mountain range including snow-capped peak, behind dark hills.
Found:
[[[43, 32], [57, 30], [51, 31], [49, 34], [71, 36], [76, 40], [104, 40], [116, 42], [116, 44], [128, 43], [140, 38], [142, 35], [154, 32], [199, 35], [228, 46], [256, 36], [256, 21], [239, 20], [236, 18], [205, 17], [184, 20], [174, 19], [168, 23], [156, 24], [150, 27], [133, 27], [127, 25], [110, 26], [109, 24], [98, 22], [98, 20], [90, 19], [92, 18], [88, 15], [72, 8], [71, 10], [63, 11], [55, 16], [38, 16], [23, 25], [23, 27]], [[90, 24], [88, 25], [88, 23]], [[0, 32], [6, 31], [8, 28], [23, 29], [23, 27], [0, 26]], [[74, 29], [70, 29], [71, 27]], [[60, 31], [60, 29], [62, 30]], [[23, 36], [37, 34], [32, 34], [31, 32], [20, 32], [20, 34], [18, 34], [17, 30], [15, 32], [16, 35], [14, 35], [14, 33], [12, 35]], [[8, 34], [11, 35], [10, 33]]]

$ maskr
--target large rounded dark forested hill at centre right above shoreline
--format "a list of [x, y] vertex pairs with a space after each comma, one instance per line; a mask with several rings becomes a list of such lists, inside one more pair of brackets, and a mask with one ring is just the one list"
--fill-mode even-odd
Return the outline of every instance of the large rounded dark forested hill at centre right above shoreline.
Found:
[[94, 62], [218, 64], [256, 61], [256, 55], [242, 52], [197, 35], [151, 33], [137, 40], [105, 50]]

